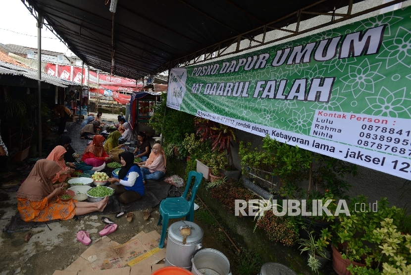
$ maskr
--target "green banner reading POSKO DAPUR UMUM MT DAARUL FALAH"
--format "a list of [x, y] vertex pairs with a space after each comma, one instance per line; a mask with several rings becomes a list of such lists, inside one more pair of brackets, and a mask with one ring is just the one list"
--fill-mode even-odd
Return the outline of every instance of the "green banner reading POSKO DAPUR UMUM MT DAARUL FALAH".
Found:
[[171, 69], [167, 106], [411, 180], [410, 15]]

